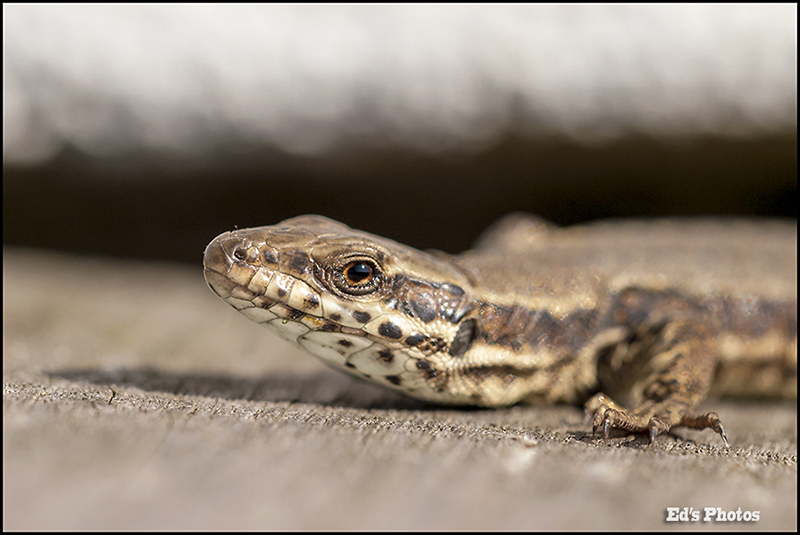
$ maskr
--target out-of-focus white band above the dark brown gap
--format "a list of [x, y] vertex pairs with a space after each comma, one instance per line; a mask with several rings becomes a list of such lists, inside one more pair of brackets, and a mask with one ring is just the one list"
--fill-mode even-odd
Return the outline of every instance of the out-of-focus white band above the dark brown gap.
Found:
[[796, 5], [4, 5], [3, 158], [796, 128]]

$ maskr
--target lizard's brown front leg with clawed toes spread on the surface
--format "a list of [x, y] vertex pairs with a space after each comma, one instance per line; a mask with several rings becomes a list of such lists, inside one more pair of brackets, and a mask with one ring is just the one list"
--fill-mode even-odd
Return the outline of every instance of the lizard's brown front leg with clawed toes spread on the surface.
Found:
[[713, 339], [702, 323], [662, 321], [639, 329], [616, 351], [598, 361], [603, 388], [626, 400], [624, 408], [606, 394], [586, 403], [592, 431], [649, 433], [651, 443], [676, 427], [711, 428], [728, 439], [716, 413], [694, 414], [714, 376]]

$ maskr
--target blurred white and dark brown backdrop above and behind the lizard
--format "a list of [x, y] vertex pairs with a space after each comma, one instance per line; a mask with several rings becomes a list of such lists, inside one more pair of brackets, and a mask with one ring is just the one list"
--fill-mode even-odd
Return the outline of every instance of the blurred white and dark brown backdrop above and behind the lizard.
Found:
[[3, 242], [796, 218], [795, 5], [5, 5]]

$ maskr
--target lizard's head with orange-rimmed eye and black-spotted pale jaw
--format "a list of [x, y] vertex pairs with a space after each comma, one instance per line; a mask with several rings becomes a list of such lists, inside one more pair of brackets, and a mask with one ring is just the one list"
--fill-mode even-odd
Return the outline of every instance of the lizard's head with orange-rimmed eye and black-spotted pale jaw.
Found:
[[471, 282], [457, 265], [324, 217], [225, 232], [203, 264], [209, 287], [251, 320], [416, 397], [448, 401], [436, 360], [475, 337]]

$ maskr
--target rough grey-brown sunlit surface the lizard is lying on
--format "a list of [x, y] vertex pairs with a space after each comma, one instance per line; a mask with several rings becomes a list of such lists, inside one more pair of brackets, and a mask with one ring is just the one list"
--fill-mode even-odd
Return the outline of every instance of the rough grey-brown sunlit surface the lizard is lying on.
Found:
[[727, 451], [604, 442], [575, 407], [447, 409], [328, 370], [214, 296], [199, 251], [3, 260], [4, 529], [797, 528], [795, 403], [708, 401]]

